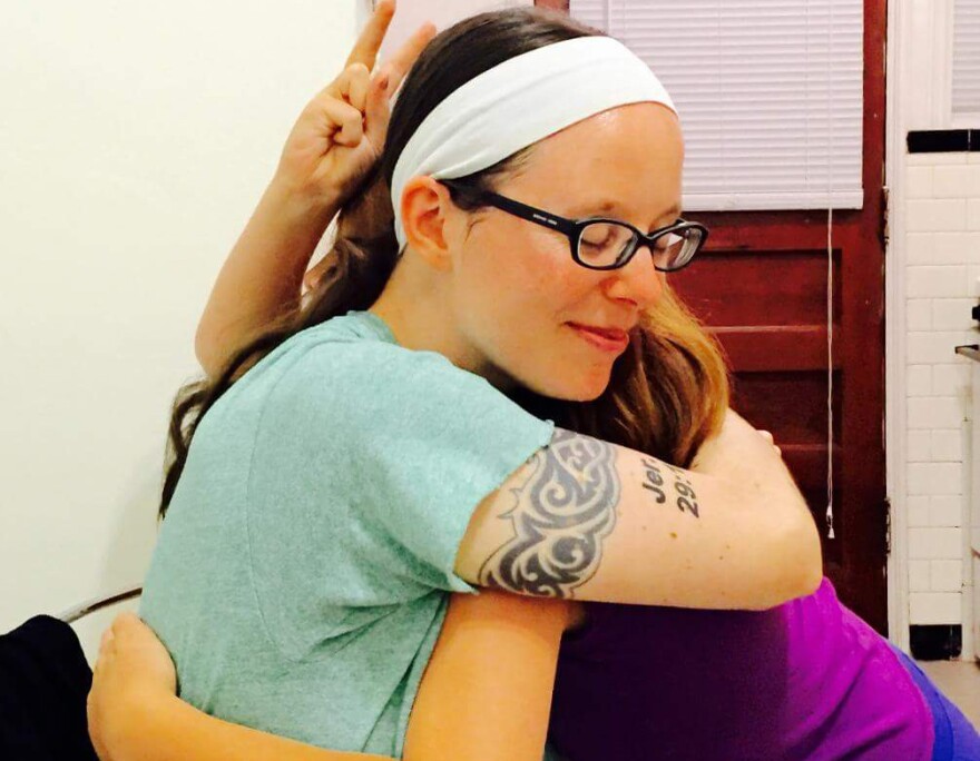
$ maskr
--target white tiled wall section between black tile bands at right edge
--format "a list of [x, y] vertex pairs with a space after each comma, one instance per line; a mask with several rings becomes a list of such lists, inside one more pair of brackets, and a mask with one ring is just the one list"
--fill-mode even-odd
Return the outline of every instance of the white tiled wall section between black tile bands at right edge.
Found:
[[[911, 624], [963, 623], [969, 455], [964, 418], [978, 343], [980, 154], [905, 156], [905, 506]], [[980, 456], [978, 453], [977, 456]]]

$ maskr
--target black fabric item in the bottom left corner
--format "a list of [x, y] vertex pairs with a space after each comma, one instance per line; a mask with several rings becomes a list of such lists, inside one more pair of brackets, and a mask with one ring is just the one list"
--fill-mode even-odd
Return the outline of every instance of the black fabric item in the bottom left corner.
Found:
[[0, 759], [98, 761], [88, 738], [91, 670], [75, 631], [38, 615], [0, 635]]

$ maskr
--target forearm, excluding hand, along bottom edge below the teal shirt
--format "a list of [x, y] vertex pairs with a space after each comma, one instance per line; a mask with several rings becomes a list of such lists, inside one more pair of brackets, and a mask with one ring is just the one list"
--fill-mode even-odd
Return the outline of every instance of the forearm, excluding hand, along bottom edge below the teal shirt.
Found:
[[391, 761], [324, 750], [209, 716], [173, 695], [140, 702], [104, 761]]

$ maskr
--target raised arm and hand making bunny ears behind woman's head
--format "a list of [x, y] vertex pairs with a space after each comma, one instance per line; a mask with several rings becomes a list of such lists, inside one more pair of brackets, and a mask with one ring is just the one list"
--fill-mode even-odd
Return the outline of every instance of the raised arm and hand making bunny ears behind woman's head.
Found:
[[195, 350], [205, 373], [219, 373], [247, 338], [300, 304], [316, 244], [346, 197], [376, 165], [388, 131], [389, 99], [435, 33], [423, 24], [372, 77], [394, 13], [379, 3], [341, 75], [303, 110], [275, 177], [218, 274], [200, 317]]

